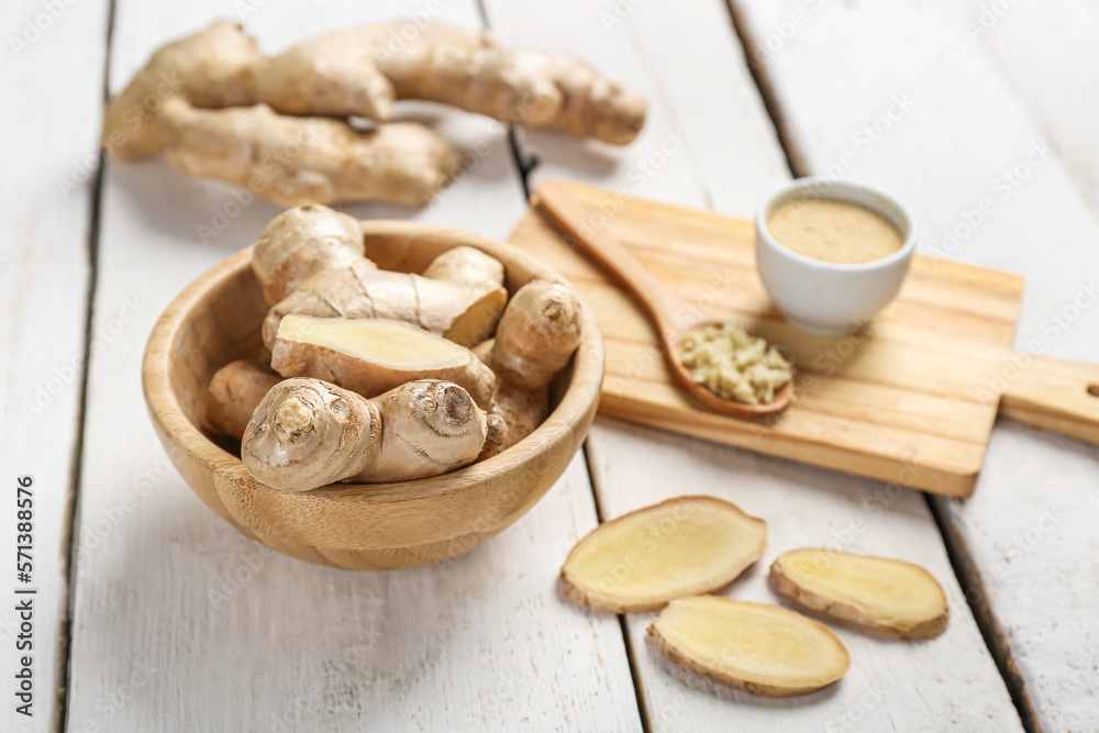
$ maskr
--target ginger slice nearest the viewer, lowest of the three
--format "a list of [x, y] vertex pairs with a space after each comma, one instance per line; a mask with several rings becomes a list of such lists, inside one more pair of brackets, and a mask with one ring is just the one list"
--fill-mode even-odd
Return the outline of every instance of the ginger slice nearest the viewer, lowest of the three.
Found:
[[809, 695], [851, 666], [847, 648], [824, 624], [777, 606], [718, 596], [671, 601], [648, 635], [684, 669], [767, 698]]

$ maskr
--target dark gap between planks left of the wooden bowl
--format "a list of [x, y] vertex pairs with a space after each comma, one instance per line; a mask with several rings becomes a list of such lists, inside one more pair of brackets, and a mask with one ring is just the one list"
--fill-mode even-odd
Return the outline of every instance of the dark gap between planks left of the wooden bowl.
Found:
[[[114, 40], [114, 14], [116, 0], [107, 4], [107, 38], [103, 53], [103, 110], [111, 98], [111, 43]], [[96, 168], [96, 180], [89, 193], [88, 204], [91, 207], [88, 220], [88, 289], [85, 301], [84, 322], [84, 363], [80, 375], [80, 397], [77, 403], [76, 441], [73, 444], [73, 473], [69, 477], [68, 490], [65, 496], [65, 519], [62, 544], [65, 547], [63, 575], [65, 586], [62, 592], [65, 597], [65, 615], [62, 618], [57, 641], [57, 673], [54, 680], [56, 708], [54, 712], [54, 730], [63, 733], [68, 730], [68, 693], [69, 675], [73, 662], [73, 613], [76, 593], [76, 564], [79, 560], [77, 521], [80, 510], [80, 481], [84, 478], [84, 437], [88, 413], [88, 381], [91, 362], [92, 319], [95, 316], [96, 290], [99, 285], [99, 234], [100, 216], [103, 202], [103, 179], [106, 178], [107, 156], [102, 147], [99, 151], [99, 165]]]

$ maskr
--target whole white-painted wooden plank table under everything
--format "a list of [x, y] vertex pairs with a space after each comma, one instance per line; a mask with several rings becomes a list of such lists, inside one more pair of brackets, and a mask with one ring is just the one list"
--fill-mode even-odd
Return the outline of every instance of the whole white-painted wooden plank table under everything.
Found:
[[[478, 165], [422, 211], [346, 211], [503, 238], [551, 177], [739, 215], [791, 169], [865, 180], [911, 204], [925, 254], [1026, 278], [1018, 344], [1099, 360], [1099, 307], [1068, 308], [1099, 279], [1094, 3], [8, 0], [0, 536], [10, 563], [16, 479], [33, 476], [37, 592], [25, 718], [4, 573], [0, 730], [1099, 730], [1099, 451], [1017, 424], [997, 425], [975, 496], [955, 501], [600, 420], [513, 527], [389, 574], [273, 554], [202, 506], [148, 424], [141, 354], [168, 301], [278, 209], [159, 159], [100, 165], [106, 90], [215, 16], [274, 51], [415, 12], [575, 52], [642, 90], [648, 124], [622, 149], [522, 131], [512, 146], [495, 122], [432, 109], [459, 147], [486, 146]], [[770, 521], [739, 597], [771, 599], [781, 548], [834, 542], [923, 564], [954, 620], [917, 644], [840, 630], [852, 670], [806, 698], [700, 684], [645, 643], [651, 615], [588, 614], [556, 586], [600, 518], [685, 492]]]

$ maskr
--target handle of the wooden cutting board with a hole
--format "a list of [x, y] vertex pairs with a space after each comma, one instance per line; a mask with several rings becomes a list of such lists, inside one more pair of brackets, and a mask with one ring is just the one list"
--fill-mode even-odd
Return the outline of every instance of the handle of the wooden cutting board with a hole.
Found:
[[1017, 354], [1004, 366], [1000, 414], [1099, 443], [1099, 365]]

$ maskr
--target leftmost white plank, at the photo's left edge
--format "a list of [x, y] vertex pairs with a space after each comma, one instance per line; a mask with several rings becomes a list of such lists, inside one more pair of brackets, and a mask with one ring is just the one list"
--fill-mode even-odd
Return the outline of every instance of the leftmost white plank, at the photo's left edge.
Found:
[[[0, 5], [0, 511], [4, 582], [0, 677], [4, 731], [52, 731], [64, 682], [71, 480], [79, 437], [88, 325], [89, 222], [102, 105], [108, 3]], [[118, 311], [103, 313], [102, 326]], [[92, 331], [93, 344], [113, 348]], [[33, 569], [16, 580], [16, 479], [33, 477]], [[9, 575], [10, 573], [10, 575]], [[12, 589], [35, 595], [13, 596]], [[21, 629], [16, 601], [30, 600], [33, 633]], [[25, 646], [27, 643], [32, 646]], [[19, 644], [19, 646], [16, 646]], [[32, 717], [14, 697], [21, 657], [32, 658]], [[60, 678], [60, 679], [59, 679]]]

